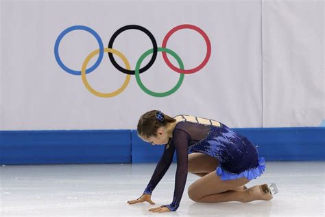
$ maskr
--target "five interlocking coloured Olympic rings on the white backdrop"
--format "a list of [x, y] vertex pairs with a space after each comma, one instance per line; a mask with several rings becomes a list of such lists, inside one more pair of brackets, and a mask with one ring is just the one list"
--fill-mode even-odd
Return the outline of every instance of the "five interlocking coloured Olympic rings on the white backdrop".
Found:
[[[180, 59], [180, 57], [175, 52], [173, 52], [171, 49], [168, 49], [166, 47], [167, 41], [169, 40], [170, 36], [173, 33], [177, 32], [178, 30], [182, 30], [182, 29], [195, 30], [196, 32], [201, 34], [201, 36], [204, 38], [204, 41], [206, 43], [206, 56], [205, 56], [204, 60], [200, 63], [200, 65], [198, 65], [197, 67], [195, 67], [193, 69], [184, 69], [184, 65], [183, 65], [183, 62]], [[66, 65], [64, 65], [64, 63], [62, 62], [62, 60], [61, 60], [61, 58], [59, 56], [59, 45], [60, 45], [60, 42], [61, 42], [62, 38], [66, 34], [68, 34], [69, 32], [72, 32], [74, 30], [84, 30], [84, 31], [92, 34], [96, 38], [97, 43], [99, 45], [99, 49], [95, 49], [93, 52], [91, 52], [91, 54], [89, 54], [86, 57], [86, 59], [84, 60], [84, 62], [82, 64], [82, 69], [80, 71], [75, 71], [73, 69], [70, 69]], [[153, 48], [147, 50], [144, 54], [142, 54], [140, 56], [139, 60], [136, 62], [136, 67], [135, 67], [134, 70], [131, 70], [128, 59], [123, 54], [121, 54], [121, 52], [119, 52], [117, 49], [112, 48], [113, 43], [115, 41], [115, 38], [117, 38], [117, 36], [119, 36], [119, 34], [121, 34], [121, 32], [124, 32], [126, 30], [139, 30], [139, 31], [147, 34], [147, 36], [149, 36], [150, 40], [152, 41], [152, 47]], [[145, 87], [143, 82], [141, 82], [141, 78], [140, 78], [140, 74], [143, 73], [144, 71], [147, 71], [154, 64], [154, 61], [156, 60], [156, 56], [157, 56], [158, 52], [162, 52], [163, 59], [165, 60], [167, 66], [170, 69], [180, 73], [180, 78], [179, 78], [178, 83], [176, 84], [176, 86], [173, 87], [172, 89], [170, 89], [169, 91], [162, 92], [162, 93], [154, 92], [154, 91], [151, 91], [151, 90], [147, 89], [147, 87]], [[108, 58], [110, 59], [110, 62], [112, 62], [112, 65], [114, 65], [114, 67], [117, 70], [119, 70], [122, 73], [126, 74], [126, 78], [125, 78], [125, 81], [122, 84], [122, 86], [119, 89], [117, 89], [116, 91], [113, 91], [111, 93], [101, 93], [99, 91], [96, 91], [95, 89], [93, 89], [93, 87], [91, 87], [90, 84], [88, 84], [88, 81], [87, 81], [87, 78], [86, 78], [87, 73], [91, 73], [92, 71], [94, 71], [99, 66], [99, 64], [101, 63], [101, 60], [103, 59], [104, 53], [108, 53]], [[173, 58], [175, 58], [177, 60], [179, 67], [176, 67], [176, 66], [171, 64], [171, 62], [167, 58], [166, 53], [170, 54], [171, 56], [173, 56]], [[98, 54], [97, 61], [95, 62], [95, 64], [92, 67], [89, 67], [87, 69], [88, 62], [91, 60], [91, 58], [93, 58], [97, 54]], [[113, 54], [119, 56], [119, 58], [121, 58], [121, 60], [123, 60], [125, 68], [121, 67], [115, 61], [115, 58], [114, 58]], [[149, 54], [152, 54], [152, 58], [149, 60], [147, 65], [145, 65], [144, 67], [141, 68], [141, 63], [143, 62], [143, 60], [147, 56], [149, 56]], [[173, 27], [171, 30], [169, 30], [169, 32], [166, 34], [166, 36], [165, 36], [165, 38], [163, 40], [163, 43], [162, 43], [161, 47], [157, 47], [156, 39], [154, 38], [152, 33], [149, 32], [149, 30], [147, 30], [145, 27], [142, 27], [140, 25], [125, 25], [125, 26], [121, 27], [119, 30], [117, 30], [112, 35], [112, 37], [110, 38], [110, 41], [108, 42], [108, 47], [107, 48], [104, 48], [103, 42], [101, 41], [101, 38], [99, 37], [97, 32], [95, 32], [95, 30], [91, 29], [90, 27], [86, 27], [84, 25], [74, 25], [74, 26], [68, 27], [66, 30], [61, 32], [60, 35], [58, 36], [58, 38], [56, 39], [56, 43], [54, 45], [54, 55], [56, 57], [56, 61], [58, 62], [58, 65], [64, 71], [67, 71], [67, 73], [71, 73], [72, 75], [77, 75], [77, 76], [81, 75], [82, 76], [82, 82], [84, 83], [84, 86], [86, 87], [86, 89], [88, 89], [88, 91], [90, 91], [94, 95], [97, 95], [97, 96], [99, 96], [101, 98], [111, 98], [111, 97], [114, 97], [116, 95], [119, 95], [119, 93], [121, 93], [128, 86], [128, 84], [130, 82], [131, 75], [134, 75], [136, 77], [136, 82], [139, 84], [139, 87], [143, 91], [145, 91], [145, 93], [147, 93], [149, 95], [152, 95], [152, 96], [155, 96], [155, 97], [165, 97], [167, 95], [171, 95], [172, 93], [175, 93], [180, 88], [180, 85], [182, 84], [182, 82], [184, 80], [184, 74], [190, 74], [190, 73], [195, 73], [197, 71], [200, 71], [200, 69], [202, 69], [206, 65], [206, 63], [208, 62], [208, 60], [210, 58], [210, 54], [211, 54], [211, 44], [210, 44], [210, 40], [209, 40], [208, 36], [199, 27], [197, 27], [195, 25], [190, 25], [190, 24], [178, 25], [176, 27]]]

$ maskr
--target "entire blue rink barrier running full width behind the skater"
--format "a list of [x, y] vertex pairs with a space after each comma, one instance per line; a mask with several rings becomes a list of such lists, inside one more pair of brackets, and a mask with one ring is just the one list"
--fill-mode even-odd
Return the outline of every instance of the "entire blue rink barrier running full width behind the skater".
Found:
[[[324, 161], [325, 128], [234, 128], [267, 161]], [[0, 131], [0, 164], [157, 162], [136, 130]], [[174, 161], [176, 154], [174, 155]]]

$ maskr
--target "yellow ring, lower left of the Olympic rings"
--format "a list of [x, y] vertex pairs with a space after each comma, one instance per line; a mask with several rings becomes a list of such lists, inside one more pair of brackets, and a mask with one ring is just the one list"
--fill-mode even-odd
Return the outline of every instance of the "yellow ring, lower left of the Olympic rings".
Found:
[[[104, 48], [104, 53], [116, 54], [117, 56], [119, 56], [123, 60], [126, 69], [128, 69], [128, 70], [131, 69], [129, 61], [125, 58], [125, 56], [123, 54], [121, 54], [121, 52], [118, 52], [116, 49]], [[125, 78], [125, 81], [124, 81], [122, 87], [120, 87], [119, 89], [117, 89], [116, 91], [114, 91], [112, 93], [101, 93], [99, 91], [96, 91], [88, 83], [87, 78], [86, 78], [86, 68], [87, 68], [88, 62], [96, 54], [99, 54], [99, 49], [96, 49], [95, 51], [91, 52], [91, 54], [89, 54], [86, 57], [86, 59], [84, 60], [84, 63], [82, 64], [82, 70], [81, 70], [82, 73], [81, 73], [81, 75], [82, 75], [82, 82], [84, 82], [84, 86], [86, 87], [86, 89], [88, 89], [88, 91], [90, 91], [91, 93], [93, 93], [93, 95], [97, 95], [97, 96], [99, 96], [101, 98], [112, 98], [115, 95], [119, 95], [119, 93], [121, 93], [122, 91], [124, 91], [124, 89], [128, 86], [128, 84], [130, 82], [130, 78], [131, 78], [130, 75], [126, 75], [126, 78]]]

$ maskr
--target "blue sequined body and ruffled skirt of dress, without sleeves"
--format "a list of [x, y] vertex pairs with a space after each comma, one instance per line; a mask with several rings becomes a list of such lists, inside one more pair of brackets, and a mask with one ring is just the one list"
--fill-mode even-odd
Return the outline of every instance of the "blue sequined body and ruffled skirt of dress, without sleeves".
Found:
[[265, 171], [265, 159], [258, 157], [256, 146], [227, 126], [212, 129], [201, 146], [203, 152], [219, 160], [216, 174], [221, 180], [252, 180]]

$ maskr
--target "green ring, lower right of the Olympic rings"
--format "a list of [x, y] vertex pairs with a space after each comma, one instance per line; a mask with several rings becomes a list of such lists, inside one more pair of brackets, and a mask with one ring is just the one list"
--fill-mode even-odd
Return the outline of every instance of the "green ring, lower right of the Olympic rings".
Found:
[[[154, 91], [150, 91], [149, 89], [147, 89], [147, 87], [145, 87], [145, 85], [143, 84], [143, 82], [141, 82], [140, 79], [140, 66], [142, 61], [145, 59], [146, 56], [148, 56], [149, 54], [152, 54], [154, 52], [154, 49], [149, 49], [147, 50], [144, 54], [142, 54], [138, 60], [138, 62], [136, 62], [136, 67], [134, 69], [134, 75], [136, 77], [136, 82], [139, 84], [139, 87], [145, 91], [145, 93], [155, 96], [155, 97], [165, 97], [167, 95], [171, 95], [172, 93], [175, 93], [179, 88], [180, 85], [182, 84], [183, 80], [184, 80], [184, 74], [180, 73], [180, 79], [178, 80], [177, 84], [175, 85], [175, 87], [173, 87], [172, 89], [170, 89], [169, 91], [163, 92], [163, 93], [157, 93]], [[171, 49], [165, 48], [165, 47], [158, 47], [158, 52], [166, 52], [167, 54], [171, 54], [171, 56], [173, 56], [173, 58], [175, 58], [178, 62], [178, 65], [180, 65], [180, 69], [184, 69], [184, 65], [182, 60], [180, 59], [180, 57], [173, 52]]]

